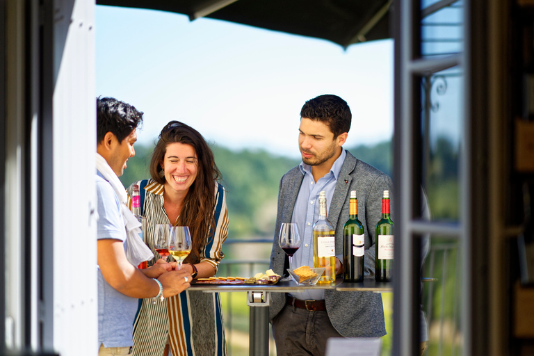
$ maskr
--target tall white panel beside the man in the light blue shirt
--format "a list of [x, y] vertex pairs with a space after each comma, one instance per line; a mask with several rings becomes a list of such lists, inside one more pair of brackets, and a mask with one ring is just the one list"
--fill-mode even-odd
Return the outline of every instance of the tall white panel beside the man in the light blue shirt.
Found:
[[54, 1], [54, 82], [54, 350], [95, 355], [95, 1]]

